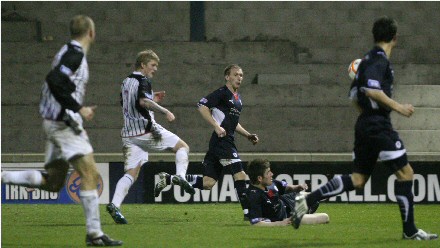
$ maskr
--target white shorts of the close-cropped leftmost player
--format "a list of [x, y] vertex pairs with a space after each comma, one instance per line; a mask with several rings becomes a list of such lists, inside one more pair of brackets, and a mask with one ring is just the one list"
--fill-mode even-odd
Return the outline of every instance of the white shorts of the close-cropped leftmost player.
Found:
[[62, 121], [43, 121], [46, 133], [45, 163], [55, 159], [68, 161], [76, 155], [93, 153], [87, 132], [84, 130], [79, 135]]

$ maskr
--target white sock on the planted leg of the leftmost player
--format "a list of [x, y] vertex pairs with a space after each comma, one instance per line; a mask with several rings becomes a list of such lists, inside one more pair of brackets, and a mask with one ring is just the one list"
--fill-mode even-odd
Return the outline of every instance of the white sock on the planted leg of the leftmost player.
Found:
[[101, 230], [101, 220], [99, 217], [99, 197], [98, 191], [85, 190], [79, 192], [79, 198], [84, 208], [86, 216], [87, 234], [92, 237], [104, 235]]

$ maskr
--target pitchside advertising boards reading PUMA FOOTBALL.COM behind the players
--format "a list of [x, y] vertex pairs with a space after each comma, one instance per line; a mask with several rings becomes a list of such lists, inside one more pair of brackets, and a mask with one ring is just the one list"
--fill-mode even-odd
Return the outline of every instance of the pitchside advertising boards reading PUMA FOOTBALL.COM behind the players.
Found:
[[[200, 163], [204, 154], [190, 154], [188, 173], [202, 174]], [[180, 186], [168, 186], [162, 194], [154, 197], [154, 185], [159, 180], [158, 173], [167, 171], [175, 173], [174, 155], [161, 153], [150, 154], [150, 162], [146, 163], [139, 178], [131, 187], [125, 198], [125, 203], [213, 203], [237, 202], [232, 175], [225, 172], [211, 191], [196, 190], [191, 196]], [[243, 161], [254, 158], [267, 158], [271, 161], [274, 178], [286, 180], [291, 184], [307, 183], [310, 190], [315, 190], [325, 184], [333, 175], [351, 173], [351, 154], [256, 154], [244, 153]], [[2, 170], [42, 169], [42, 154], [25, 156], [23, 154], [2, 155]], [[101, 181], [98, 185], [100, 203], [106, 204], [112, 198], [118, 180], [124, 174], [123, 162], [119, 154], [97, 154], [98, 168]], [[409, 154], [414, 169], [414, 200], [415, 202], [440, 203], [440, 154]], [[11, 162], [6, 163], [5, 161]], [[21, 161], [21, 162], [18, 162]], [[104, 162], [107, 161], [107, 162]], [[113, 161], [113, 162], [109, 162]], [[246, 164], [246, 162], [244, 162]], [[372, 183], [374, 181], [374, 183]], [[377, 165], [371, 179], [364, 190], [344, 193], [329, 199], [329, 202], [395, 202], [395, 176], [381, 163]], [[72, 204], [78, 203], [80, 178], [70, 172], [66, 178], [66, 186], [59, 193], [49, 193], [38, 189], [9, 186], [2, 184], [2, 204]]]

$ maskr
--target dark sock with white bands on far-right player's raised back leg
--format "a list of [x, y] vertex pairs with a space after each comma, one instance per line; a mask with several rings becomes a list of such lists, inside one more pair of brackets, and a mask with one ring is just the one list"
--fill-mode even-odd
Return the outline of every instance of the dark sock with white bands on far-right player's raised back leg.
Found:
[[335, 176], [324, 186], [306, 196], [307, 206], [312, 206], [317, 201], [352, 190], [354, 190], [354, 186], [349, 175]]

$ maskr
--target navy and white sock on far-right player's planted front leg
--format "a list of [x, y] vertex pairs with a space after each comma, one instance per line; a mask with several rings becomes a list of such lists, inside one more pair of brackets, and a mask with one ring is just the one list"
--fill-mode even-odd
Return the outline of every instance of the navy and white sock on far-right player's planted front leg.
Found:
[[413, 181], [395, 181], [394, 193], [399, 204], [402, 217], [403, 232], [411, 236], [417, 232], [414, 224], [414, 195], [412, 193]]

